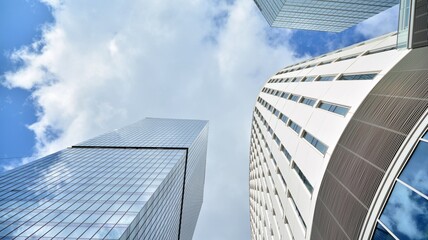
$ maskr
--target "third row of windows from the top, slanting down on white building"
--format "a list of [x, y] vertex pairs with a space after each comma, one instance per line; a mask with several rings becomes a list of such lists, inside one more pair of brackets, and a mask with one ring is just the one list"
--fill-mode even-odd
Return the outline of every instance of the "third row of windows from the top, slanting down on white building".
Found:
[[[274, 89], [266, 88], [266, 87], [262, 89], [262, 92], [267, 93], [267, 94], [271, 94], [271, 95], [275, 95], [275, 96], [284, 97], [285, 99], [291, 100], [293, 102], [303, 103], [303, 104], [306, 104], [306, 105], [311, 106], [311, 107], [314, 106], [315, 103], [317, 102], [317, 100], [314, 98], [300, 96], [297, 94], [291, 94], [288, 92], [282, 92], [279, 90], [274, 90]], [[349, 107], [341, 106], [338, 104], [329, 103], [329, 102], [325, 102], [325, 101], [321, 101], [321, 100], [316, 105], [316, 107], [323, 109], [323, 110], [326, 110], [326, 111], [329, 111], [329, 112], [333, 112], [333, 113], [342, 115], [342, 116], [346, 116], [346, 114], [349, 111]]]

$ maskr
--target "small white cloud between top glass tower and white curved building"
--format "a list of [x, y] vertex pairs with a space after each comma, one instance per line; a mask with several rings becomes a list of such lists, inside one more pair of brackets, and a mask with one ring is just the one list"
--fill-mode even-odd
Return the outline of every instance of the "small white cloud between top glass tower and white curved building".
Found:
[[398, 5], [389, 8], [357, 25], [356, 31], [366, 38], [374, 38], [389, 32], [397, 31]]

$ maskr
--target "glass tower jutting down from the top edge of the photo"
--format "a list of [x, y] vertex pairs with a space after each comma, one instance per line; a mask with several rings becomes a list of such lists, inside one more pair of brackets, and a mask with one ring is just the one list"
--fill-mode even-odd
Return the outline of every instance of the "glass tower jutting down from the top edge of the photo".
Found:
[[398, 0], [254, 0], [272, 27], [340, 32], [396, 4]]

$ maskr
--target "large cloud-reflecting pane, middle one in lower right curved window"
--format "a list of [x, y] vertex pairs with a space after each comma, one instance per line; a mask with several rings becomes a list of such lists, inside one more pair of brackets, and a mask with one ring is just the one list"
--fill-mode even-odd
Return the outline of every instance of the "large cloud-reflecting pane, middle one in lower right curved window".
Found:
[[426, 239], [428, 201], [397, 182], [380, 221], [399, 239]]

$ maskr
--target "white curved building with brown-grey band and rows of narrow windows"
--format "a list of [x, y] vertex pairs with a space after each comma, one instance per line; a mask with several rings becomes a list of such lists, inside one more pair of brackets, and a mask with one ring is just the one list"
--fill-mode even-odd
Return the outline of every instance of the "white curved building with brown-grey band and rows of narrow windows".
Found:
[[413, 40], [397, 49], [387, 34], [267, 81], [251, 132], [253, 239], [426, 239], [428, 48]]

